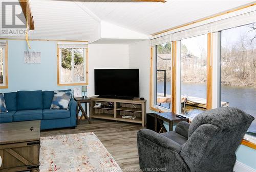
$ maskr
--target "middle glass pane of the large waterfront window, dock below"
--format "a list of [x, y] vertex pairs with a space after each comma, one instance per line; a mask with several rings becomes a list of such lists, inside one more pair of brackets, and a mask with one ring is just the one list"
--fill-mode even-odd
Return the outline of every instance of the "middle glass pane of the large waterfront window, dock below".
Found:
[[195, 117], [206, 110], [207, 35], [181, 40], [181, 113]]

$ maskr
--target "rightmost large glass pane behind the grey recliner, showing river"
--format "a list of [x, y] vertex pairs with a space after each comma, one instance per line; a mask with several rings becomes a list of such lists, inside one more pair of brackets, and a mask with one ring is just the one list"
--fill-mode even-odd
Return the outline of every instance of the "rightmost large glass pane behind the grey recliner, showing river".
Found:
[[256, 118], [256, 23], [221, 32], [221, 101]]

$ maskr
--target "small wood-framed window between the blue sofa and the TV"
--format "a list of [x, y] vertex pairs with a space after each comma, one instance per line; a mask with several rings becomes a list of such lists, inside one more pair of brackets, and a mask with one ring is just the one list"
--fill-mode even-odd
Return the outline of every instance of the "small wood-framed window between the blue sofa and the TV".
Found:
[[88, 45], [58, 42], [57, 85], [88, 85]]

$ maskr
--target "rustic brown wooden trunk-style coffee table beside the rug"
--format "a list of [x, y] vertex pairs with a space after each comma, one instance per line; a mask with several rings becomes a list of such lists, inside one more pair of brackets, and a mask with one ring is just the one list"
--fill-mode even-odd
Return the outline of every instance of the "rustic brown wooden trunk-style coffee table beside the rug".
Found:
[[40, 120], [0, 124], [2, 171], [39, 171]]

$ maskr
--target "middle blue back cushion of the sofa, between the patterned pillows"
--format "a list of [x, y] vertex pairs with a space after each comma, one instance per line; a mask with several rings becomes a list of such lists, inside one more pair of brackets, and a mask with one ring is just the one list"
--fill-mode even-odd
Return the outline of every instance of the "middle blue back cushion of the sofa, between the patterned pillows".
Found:
[[17, 110], [42, 109], [42, 91], [18, 91]]

